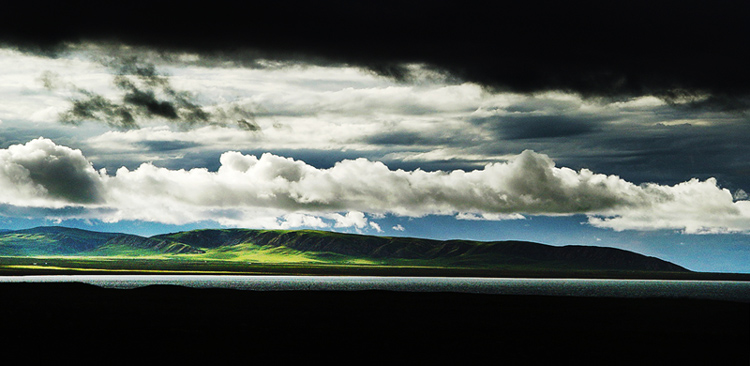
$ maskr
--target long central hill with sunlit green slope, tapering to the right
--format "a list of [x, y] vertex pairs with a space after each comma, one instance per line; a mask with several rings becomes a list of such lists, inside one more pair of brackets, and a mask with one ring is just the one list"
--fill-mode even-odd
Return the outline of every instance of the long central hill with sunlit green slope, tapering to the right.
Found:
[[[436, 241], [420, 238], [378, 237], [315, 230], [195, 230], [157, 236], [200, 247], [211, 258], [219, 258], [216, 250], [227, 248], [217, 243], [243, 244], [236, 258], [258, 256], [268, 250], [272, 254], [301, 256], [307, 263], [361, 263], [388, 266], [433, 266], [480, 269], [629, 269], [656, 263], [654, 270], [684, 271], [679, 266], [614, 248], [552, 247], [530, 242], [476, 242], [467, 240]], [[221, 258], [229, 258], [223, 256]], [[262, 261], [261, 261], [262, 262]], [[648, 262], [648, 263], [647, 263]], [[666, 264], [666, 265], [664, 265]]]

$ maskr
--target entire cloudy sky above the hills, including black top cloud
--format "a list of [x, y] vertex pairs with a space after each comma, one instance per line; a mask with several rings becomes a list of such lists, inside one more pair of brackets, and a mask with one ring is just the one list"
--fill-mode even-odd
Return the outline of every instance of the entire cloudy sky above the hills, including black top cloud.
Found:
[[486, 6], [9, 5], [29, 16], [0, 25], [0, 228], [529, 240], [750, 273], [748, 5]]

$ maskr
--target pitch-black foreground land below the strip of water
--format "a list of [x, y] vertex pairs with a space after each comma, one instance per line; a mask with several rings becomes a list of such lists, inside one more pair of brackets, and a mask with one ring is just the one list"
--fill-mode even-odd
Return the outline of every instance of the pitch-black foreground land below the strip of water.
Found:
[[6, 354], [56, 363], [750, 362], [749, 303], [76, 283], [0, 299]]

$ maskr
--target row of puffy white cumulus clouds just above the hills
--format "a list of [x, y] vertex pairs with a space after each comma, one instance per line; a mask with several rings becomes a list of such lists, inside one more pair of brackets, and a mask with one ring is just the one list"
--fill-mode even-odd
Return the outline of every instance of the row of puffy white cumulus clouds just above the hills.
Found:
[[[527, 150], [474, 171], [391, 170], [366, 159], [328, 169], [266, 153], [229, 151], [216, 171], [171, 170], [151, 163], [114, 174], [96, 171], [79, 150], [39, 138], [0, 150], [0, 203], [105, 221], [232, 226], [379, 226], [384, 214], [459, 219], [519, 215], [589, 215], [615, 230], [676, 229], [688, 233], [750, 231], [750, 202], [715, 179], [673, 186], [635, 185], [615, 175], [556, 167]], [[49, 211], [47, 211], [49, 212]]]

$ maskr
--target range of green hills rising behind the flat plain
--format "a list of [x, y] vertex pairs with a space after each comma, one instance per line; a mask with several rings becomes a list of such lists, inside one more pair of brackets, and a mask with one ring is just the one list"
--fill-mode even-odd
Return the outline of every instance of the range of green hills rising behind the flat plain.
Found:
[[315, 230], [203, 229], [142, 237], [46, 226], [0, 231], [0, 256], [156, 256], [265, 264], [688, 272], [659, 258], [607, 247], [442, 241]]

